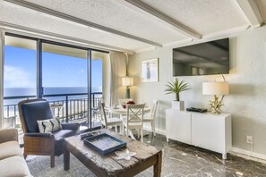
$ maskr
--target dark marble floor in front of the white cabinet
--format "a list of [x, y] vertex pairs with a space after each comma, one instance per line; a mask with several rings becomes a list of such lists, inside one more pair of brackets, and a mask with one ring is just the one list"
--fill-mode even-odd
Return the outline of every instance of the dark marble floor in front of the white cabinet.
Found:
[[162, 176], [266, 176], [266, 164], [228, 154], [193, 147], [146, 132], [144, 142], [163, 151]]

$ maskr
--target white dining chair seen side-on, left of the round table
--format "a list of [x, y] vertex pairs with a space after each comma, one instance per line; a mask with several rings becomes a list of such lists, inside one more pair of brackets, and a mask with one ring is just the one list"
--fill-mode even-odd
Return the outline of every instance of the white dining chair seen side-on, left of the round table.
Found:
[[117, 125], [120, 126], [120, 133], [123, 132], [123, 120], [118, 117], [107, 117], [105, 103], [101, 103], [101, 122], [102, 125], [107, 129], [108, 126], [115, 126], [115, 131], [117, 132]]

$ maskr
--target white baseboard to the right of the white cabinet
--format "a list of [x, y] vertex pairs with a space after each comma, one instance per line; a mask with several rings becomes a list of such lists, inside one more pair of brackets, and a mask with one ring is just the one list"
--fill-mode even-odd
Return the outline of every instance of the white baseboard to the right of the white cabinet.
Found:
[[261, 162], [266, 164], [266, 156], [259, 154], [259, 153], [254, 153], [252, 151], [248, 151], [248, 150], [244, 150], [241, 148], [237, 148], [237, 147], [232, 147], [232, 149], [230, 150], [230, 154], [236, 155], [236, 156], [241, 156], [244, 157], [246, 159], [250, 159], [253, 161], [257, 161], [257, 162]]

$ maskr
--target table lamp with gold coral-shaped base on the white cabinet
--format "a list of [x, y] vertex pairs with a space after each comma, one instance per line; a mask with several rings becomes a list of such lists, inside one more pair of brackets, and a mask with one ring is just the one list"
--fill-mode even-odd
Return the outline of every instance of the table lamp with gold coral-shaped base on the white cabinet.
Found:
[[[212, 114], [220, 114], [223, 98], [229, 94], [228, 82], [213, 81], [202, 83], [202, 95], [214, 96], [214, 100], [210, 100], [209, 110]], [[219, 100], [218, 96], [222, 96]]]

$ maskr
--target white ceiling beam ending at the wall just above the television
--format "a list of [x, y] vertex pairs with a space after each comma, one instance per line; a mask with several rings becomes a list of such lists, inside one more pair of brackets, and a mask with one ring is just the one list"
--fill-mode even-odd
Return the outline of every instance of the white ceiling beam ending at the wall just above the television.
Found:
[[183, 34], [189, 38], [202, 38], [202, 35], [198, 32], [190, 29], [189, 27], [185, 26], [183, 23], [176, 21], [175, 19], [167, 16], [165, 13], [161, 13], [158, 10], [154, 9], [148, 4], [142, 3], [139, 0], [116, 0], [116, 2], [120, 4], [124, 4], [124, 6], [132, 9], [137, 13], [142, 13], [143, 15], [158, 21], [163, 25], [167, 25], [167, 27], [178, 31], [179, 33]]

